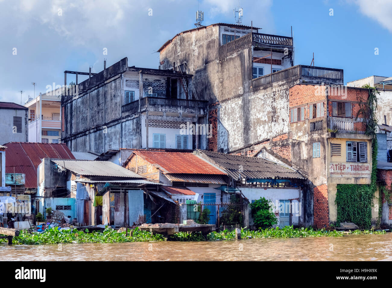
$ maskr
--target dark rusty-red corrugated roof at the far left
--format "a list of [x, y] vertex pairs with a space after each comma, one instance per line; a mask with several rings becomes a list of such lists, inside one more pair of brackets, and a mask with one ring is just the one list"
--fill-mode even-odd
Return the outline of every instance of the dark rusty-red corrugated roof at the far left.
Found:
[[42, 158], [75, 159], [67, 145], [53, 143], [9, 142], [5, 153], [5, 173], [24, 173], [25, 187], [37, 188], [37, 168]]

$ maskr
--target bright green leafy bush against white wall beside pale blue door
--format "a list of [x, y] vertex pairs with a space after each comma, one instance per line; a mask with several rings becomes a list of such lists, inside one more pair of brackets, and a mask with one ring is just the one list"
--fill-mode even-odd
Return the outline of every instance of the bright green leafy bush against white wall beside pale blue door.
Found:
[[254, 203], [249, 203], [254, 225], [259, 229], [265, 229], [278, 223], [274, 212], [270, 211], [271, 205], [271, 201], [265, 199], [265, 197], [260, 197]]

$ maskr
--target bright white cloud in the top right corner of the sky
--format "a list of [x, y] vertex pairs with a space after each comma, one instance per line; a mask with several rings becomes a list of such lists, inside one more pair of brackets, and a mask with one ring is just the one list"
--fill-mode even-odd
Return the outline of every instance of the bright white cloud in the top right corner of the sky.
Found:
[[361, 13], [376, 20], [392, 33], [392, 2], [390, 0], [356, 0]]

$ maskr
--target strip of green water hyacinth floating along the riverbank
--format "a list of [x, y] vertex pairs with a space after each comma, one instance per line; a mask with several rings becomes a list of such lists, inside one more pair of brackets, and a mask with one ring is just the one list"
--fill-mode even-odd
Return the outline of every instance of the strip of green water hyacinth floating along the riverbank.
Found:
[[[148, 231], [133, 229], [132, 236], [129, 230], [126, 232], [117, 232], [113, 228], [106, 227], [103, 232], [94, 231], [88, 233], [86, 229], [78, 231], [75, 229], [59, 230], [58, 227], [46, 229], [44, 233], [28, 232], [22, 230], [18, 237], [13, 237], [13, 244], [15, 245], [38, 245], [38, 244], [58, 244], [58, 243], [126, 243], [126, 242], [146, 242], [146, 241], [165, 241], [165, 236], [161, 234], [151, 234]], [[249, 229], [241, 229], [242, 239], [263, 239], [263, 238], [298, 238], [298, 237], [343, 237], [347, 234], [385, 234], [383, 231], [374, 230], [354, 230], [348, 232], [341, 232], [336, 230], [317, 230], [312, 227], [293, 228], [293, 226], [285, 226], [284, 228], [267, 228], [252, 231]], [[205, 241], [205, 240], [230, 240], [235, 239], [234, 230], [223, 230], [220, 232], [213, 231], [207, 235], [207, 239], [199, 232], [179, 232], [174, 235], [169, 235], [169, 241]], [[7, 239], [0, 239], [0, 241], [7, 241]]]

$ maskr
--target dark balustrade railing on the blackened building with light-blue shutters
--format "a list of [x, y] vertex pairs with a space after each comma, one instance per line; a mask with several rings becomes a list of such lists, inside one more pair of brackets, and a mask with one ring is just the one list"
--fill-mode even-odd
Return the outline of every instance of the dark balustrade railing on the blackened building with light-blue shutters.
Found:
[[[176, 98], [163, 98], [163, 97], [144, 97], [140, 100], [140, 110], [144, 110], [148, 106], [169, 106], [169, 107], [194, 107], [203, 108], [208, 107], [206, 100], [187, 100]], [[139, 100], [125, 104], [122, 107], [122, 112], [130, 111], [131, 113], [139, 110]]]

